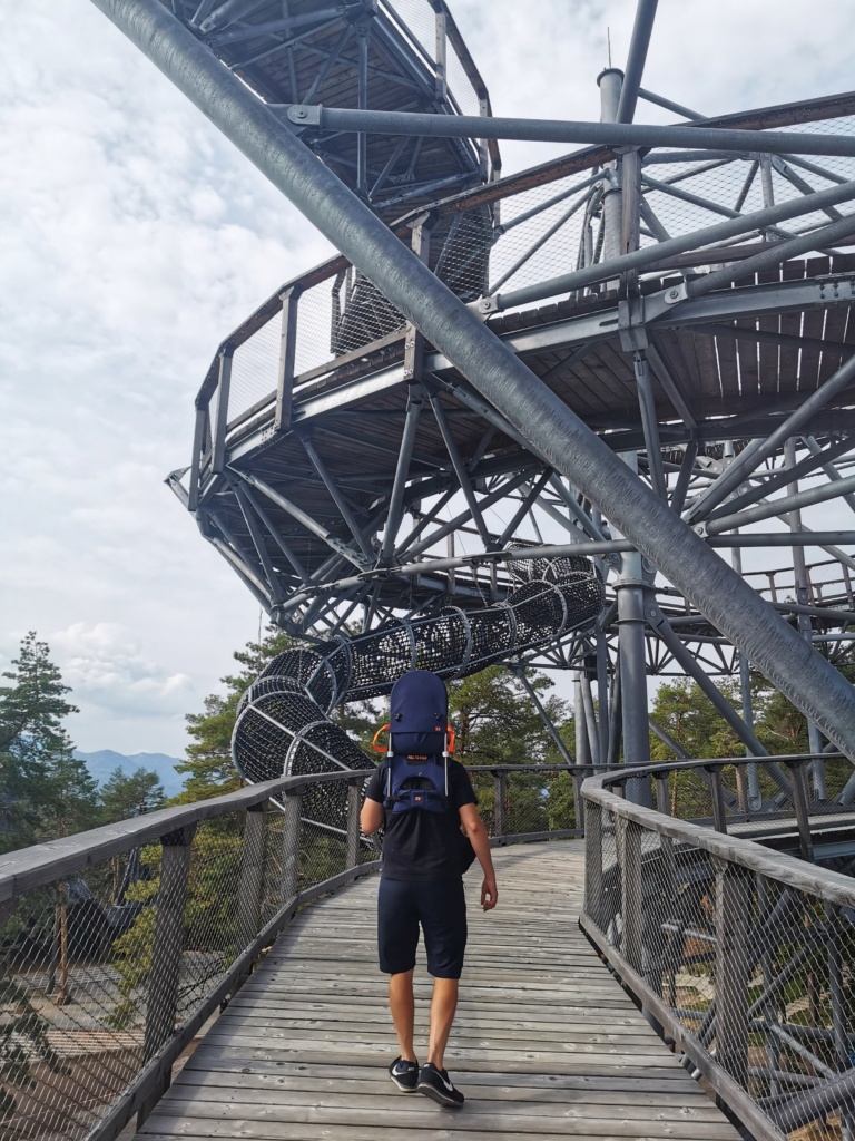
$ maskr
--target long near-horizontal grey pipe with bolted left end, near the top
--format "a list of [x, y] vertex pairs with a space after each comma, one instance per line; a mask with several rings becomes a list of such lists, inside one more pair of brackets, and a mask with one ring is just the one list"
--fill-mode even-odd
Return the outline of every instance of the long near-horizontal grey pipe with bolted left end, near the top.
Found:
[[[115, 7], [122, 0], [93, 0], [98, 7]], [[608, 68], [617, 71], [617, 68]], [[617, 113], [617, 108], [616, 108]], [[756, 154], [795, 152], [855, 157], [855, 138], [849, 135], [797, 135], [788, 131], [741, 130], [722, 127], [665, 127], [659, 124], [598, 123], [561, 119], [510, 119], [494, 115], [441, 115], [410, 111], [357, 111], [319, 104], [292, 105], [288, 120], [295, 127], [321, 131], [368, 131], [372, 135], [415, 135], [418, 138], [491, 138], [526, 143], [585, 143], [601, 146], [693, 147]]]

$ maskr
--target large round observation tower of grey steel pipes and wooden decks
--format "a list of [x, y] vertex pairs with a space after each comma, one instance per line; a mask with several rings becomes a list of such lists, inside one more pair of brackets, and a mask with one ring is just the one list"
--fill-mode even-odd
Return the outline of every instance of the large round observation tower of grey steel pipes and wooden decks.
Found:
[[[242, 770], [339, 763], [311, 710], [277, 736], [290, 694], [326, 718], [488, 661], [572, 671], [568, 763], [644, 764], [678, 674], [757, 758], [750, 812], [789, 788], [754, 670], [848, 804], [855, 95], [682, 106], [643, 86], [656, 0], [595, 123], [494, 118], [442, 0], [95, 2], [341, 251], [223, 339], [169, 478], [306, 640], [244, 702]], [[503, 177], [503, 138], [567, 153]]]

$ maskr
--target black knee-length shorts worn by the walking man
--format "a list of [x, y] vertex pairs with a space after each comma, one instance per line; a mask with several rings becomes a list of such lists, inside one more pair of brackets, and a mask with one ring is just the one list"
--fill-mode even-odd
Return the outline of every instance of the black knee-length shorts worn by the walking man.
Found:
[[437, 979], [459, 979], [466, 949], [463, 880], [385, 880], [377, 892], [380, 969], [386, 974], [416, 965], [418, 928], [427, 970]]

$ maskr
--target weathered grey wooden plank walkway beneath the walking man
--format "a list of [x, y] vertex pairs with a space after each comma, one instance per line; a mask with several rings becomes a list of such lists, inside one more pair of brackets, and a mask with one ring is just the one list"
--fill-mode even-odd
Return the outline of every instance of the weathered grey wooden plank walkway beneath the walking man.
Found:
[[[399, 1093], [386, 1076], [398, 1051], [376, 965], [370, 877], [298, 916], [139, 1135], [739, 1141], [579, 931], [581, 844], [495, 856], [494, 912], [478, 906], [478, 868], [466, 877], [470, 944], [446, 1053], [466, 1094], [462, 1110]], [[422, 960], [417, 1047], [429, 994]]]

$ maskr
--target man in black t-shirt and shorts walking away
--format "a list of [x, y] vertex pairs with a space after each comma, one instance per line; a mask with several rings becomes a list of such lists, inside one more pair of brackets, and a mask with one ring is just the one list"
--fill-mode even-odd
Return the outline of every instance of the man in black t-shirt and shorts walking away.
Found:
[[[439, 681], [433, 674], [424, 678]], [[368, 780], [360, 826], [365, 835], [385, 826], [377, 893], [377, 945], [380, 969], [390, 977], [389, 1006], [400, 1050], [389, 1074], [404, 1093], [418, 1091], [442, 1106], [459, 1108], [465, 1099], [445, 1069], [445, 1050], [457, 1009], [466, 947], [461, 825], [483, 871], [481, 906], [486, 912], [496, 906], [497, 890], [487, 830], [475, 808], [469, 774], [450, 758], [446, 758], [446, 766], [447, 792], [443, 791], [441, 806], [429, 810], [407, 806], [408, 810], [401, 811], [391, 810], [388, 770], [385, 766], [378, 767]], [[433, 976], [427, 1060], [421, 1069], [413, 1044], [413, 970], [420, 926], [427, 970]]]

